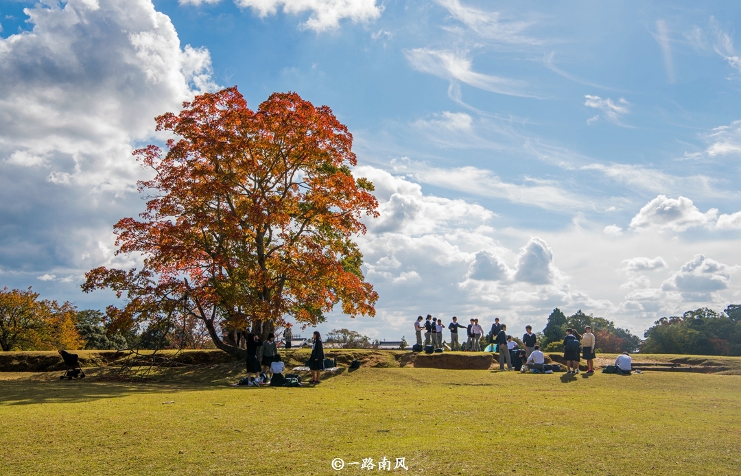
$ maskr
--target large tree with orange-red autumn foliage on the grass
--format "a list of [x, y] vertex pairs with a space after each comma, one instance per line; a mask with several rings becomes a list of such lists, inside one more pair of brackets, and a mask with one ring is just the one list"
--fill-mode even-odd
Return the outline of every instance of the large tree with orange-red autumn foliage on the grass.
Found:
[[114, 227], [117, 252], [144, 265], [92, 269], [82, 286], [126, 295], [107, 310], [113, 329], [190, 316], [241, 356], [247, 329], [265, 336], [287, 316], [317, 324], [338, 303], [375, 314], [353, 237], [377, 202], [373, 184], [353, 177], [353, 137], [329, 107], [273, 93], [253, 111], [230, 87], [156, 122], [176, 139], [165, 155], [134, 152], [155, 172], [139, 183], [147, 208]]

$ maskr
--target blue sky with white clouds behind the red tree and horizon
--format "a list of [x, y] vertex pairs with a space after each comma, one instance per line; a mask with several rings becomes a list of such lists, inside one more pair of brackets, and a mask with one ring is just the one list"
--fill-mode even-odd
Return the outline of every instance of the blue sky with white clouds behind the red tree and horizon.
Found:
[[102, 308], [162, 141], [153, 116], [236, 84], [348, 125], [381, 217], [359, 238], [376, 318], [634, 332], [741, 302], [741, 9], [735, 2], [0, 1], [0, 278]]

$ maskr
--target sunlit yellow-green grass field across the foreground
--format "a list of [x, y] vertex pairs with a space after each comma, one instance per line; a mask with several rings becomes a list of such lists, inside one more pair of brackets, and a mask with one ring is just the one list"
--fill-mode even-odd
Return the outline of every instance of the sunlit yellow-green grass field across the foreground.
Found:
[[315, 387], [228, 386], [242, 368], [147, 383], [1, 372], [0, 474], [359, 475], [371, 471], [330, 462], [368, 457], [391, 473], [405, 457], [408, 474], [741, 474], [738, 375], [387, 366]]

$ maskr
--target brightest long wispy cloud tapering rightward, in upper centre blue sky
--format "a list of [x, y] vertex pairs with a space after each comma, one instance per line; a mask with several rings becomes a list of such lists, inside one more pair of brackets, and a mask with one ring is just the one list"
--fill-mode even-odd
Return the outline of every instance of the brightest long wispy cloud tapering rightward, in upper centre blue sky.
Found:
[[429, 73], [448, 81], [461, 81], [469, 86], [492, 93], [536, 98], [528, 91], [528, 84], [516, 79], [502, 78], [473, 71], [471, 59], [465, 53], [451, 50], [414, 48], [404, 52], [415, 70]]

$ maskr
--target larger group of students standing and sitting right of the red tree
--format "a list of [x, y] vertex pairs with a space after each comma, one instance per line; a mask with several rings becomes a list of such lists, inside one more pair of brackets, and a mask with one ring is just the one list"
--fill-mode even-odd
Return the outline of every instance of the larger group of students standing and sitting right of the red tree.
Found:
[[[484, 330], [479, 324], [478, 319], [473, 318], [470, 322], [471, 324], [468, 324], [468, 326], [463, 326], [462, 324], [459, 324], [458, 318], [453, 316], [451, 323], [448, 324], [448, 330], [451, 333], [451, 350], [481, 352], [481, 340]], [[435, 319], [429, 314], [426, 319], [422, 318], [421, 315], [417, 317], [416, 321], [414, 321], [414, 333], [416, 335], [416, 345], [418, 346], [417, 349], [421, 348], [423, 345], [423, 333], [425, 346], [433, 346], [438, 349], [442, 348], [443, 329], [445, 329], [445, 326], [442, 324], [442, 319]], [[463, 344], [459, 341], [458, 329], [466, 329], [467, 340]], [[594, 373], [594, 358], [597, 341], [594, 338], [594, 334], [592, 334], [591, 326], [585, 326], [584, 331], [584, 335], [579, 335], [579, 332], [576, 332], [576, 329], [566, 329], [566, 336], [563, 340], [563, 358], [566, 361], [567, 374], [578, 374], [579, 362], [582, 359], [587, 363], [586, 372], [588, 374]], [[507, 334], [506, 324], [501, 324], [499, 318], [495, 318], [494, 324], [491, 324], [489, 336], [489, 341], [496, 344], [495, 352], [499, 352], [499, 369], [504, 370], [506, 364], [507, 370], [513, 370], [510, 351], [516, 349], [518, 344], [511, 335]], [[545, 365], [545, 355], [543, 355], [540, 347], [537, 345], [536, 335], [533, 333], [533, 327], [530, 325], [525, 326], [525, 334], [522, 335], [522, 346], [525, 347], [525, 367], [536, 371], [542, 370]], [[625, 356], [628, 356], [628, 352], [624, 353], [623, 357]], [[630, 357], [628, 356], [628, 359], [629, 358]], [[627, 362], [627, 365], [625, 362]], [[622, 366], [619, 366], [618, 363]], [[623, 372], [630, 372], [631, 363], [618, 357], [615, 366], [619, 367]]]

